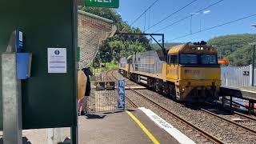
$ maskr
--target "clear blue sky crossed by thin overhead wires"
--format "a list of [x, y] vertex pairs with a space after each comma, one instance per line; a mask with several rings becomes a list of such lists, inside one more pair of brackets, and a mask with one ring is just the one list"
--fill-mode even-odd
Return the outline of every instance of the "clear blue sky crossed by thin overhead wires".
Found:
[[[155, 1], [156, 0], [120, 0], [120, 6], [117, 12], [121, 14], [123, 21], [132, 24], [132, 22]], [[166, 42], [199, 42], [202, 40], [208, 41], [210, 38], [226, 34], [256, 34], [256, 28], [251, 26], [251, 24], [256, 24], [256, 15], [243, 19], [242, 21], [230, 23], [226, 26], [220, 26], [212, 30], [193, 34], [200, 30], [221, 25], [222, 23], [256, 14], [256, 0], [223, 0], [197, 14], [194, 13], [219, 0], [197, 0], [189, 6], [186, 6], [192, 1], [194, 0], [158, 0], [158, 2], [156, 2], [150, 10], [147, 10], [146, 14], [143, 14], [132, 26], [139, 27], [142, 31], [146, 30], [145, 33], [158, 32], [165, 34]], [[181, 9], [183, 6], [186, 6], [186, 8], [154, 26], [154, 24]], [[194, 14], [192, 18], [190, 16], [191, 14]], [[182, 22], [178, 22], [173, 26], [161, 30], [171, 23], [187, 16], [189, 18], [186, 18]], [[179, 38], [183, 35], [191, 34], [191, 32], [192, 35]]]

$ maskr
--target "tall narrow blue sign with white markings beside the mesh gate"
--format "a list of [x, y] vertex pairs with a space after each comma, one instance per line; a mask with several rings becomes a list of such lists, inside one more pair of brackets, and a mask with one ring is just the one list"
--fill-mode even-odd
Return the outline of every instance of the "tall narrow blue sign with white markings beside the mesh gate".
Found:
[[118, 81], [118, 109], [126, 109], [126, 89], [125, 80]]

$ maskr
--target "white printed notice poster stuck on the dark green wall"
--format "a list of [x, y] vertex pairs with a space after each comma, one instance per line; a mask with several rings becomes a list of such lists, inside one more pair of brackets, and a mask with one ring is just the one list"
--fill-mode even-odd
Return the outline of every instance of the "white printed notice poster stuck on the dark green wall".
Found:
[[66, 48], [48, 48], [48, 73], [66, 73]]

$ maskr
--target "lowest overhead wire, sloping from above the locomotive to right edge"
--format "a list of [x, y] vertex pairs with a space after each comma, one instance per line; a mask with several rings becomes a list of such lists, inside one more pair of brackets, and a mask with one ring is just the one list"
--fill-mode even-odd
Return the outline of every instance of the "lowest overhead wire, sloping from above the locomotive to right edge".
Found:
[[218, 25], [218, 26], [212, 26], [212, 27], [209, 27], [209, 28], [204, 29], [204, 30], [199, 30], [199, 31], [194, 32], [194, 33], [192, 33], [192, 34], [182, 35], [182, 36], [180, 36], [180, 37], [178, 37], [178, 38], [171, 39], [170, 41], [174, 41], [174, 40], [179, 39], [179, 38], [185, 38], [185, 37], [187, 37], [187, 36], [190, 36], [190, 35], [193, 35], [193, 34], [198, 34], [198, 33], [201, 33], [201, 32], [203, 32], [203, 31], [206, 31], [206, 30], [212, 30], [212, 29], [215, 29], [215, 28], [217, 28], [217, 27], [225, 26], [225, 25], [227, 25], [227, 24], [230, 24], [230, 23], [233, 23], [233, 22], [238, 22], [238, 21], [241, 21], [241, 20], [243, 20], [243, 19], [250, 18], [250, 17], [254, 17], [254, 16], [256, 16], [256, 14], [251, 14], [251, 15], [248, 15], [248, 16], [243, 17], [243, 18], [238, 18], [238, 19], [235, 19], [235, 20], [230, 21], [230, 22], [222, 23], [222, 24], [220, 24], [220, 25]]

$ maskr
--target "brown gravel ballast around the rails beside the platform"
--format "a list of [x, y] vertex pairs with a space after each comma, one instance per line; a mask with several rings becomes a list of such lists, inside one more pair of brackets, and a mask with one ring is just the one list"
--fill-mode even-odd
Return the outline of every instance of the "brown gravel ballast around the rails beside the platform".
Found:
[[[122, 75], [114, 72], [118, 75], [119, 78], [122, 78]], [[134, 83], [130, 82], [126, 79], [126, 83]], [[214, 135], [216, 138], [219, 138], [225, 143], [256, 143], [256, 136], [243, 130], [240, 127], [234, 126], [230, 124], [230, 122], [226, 122], [221, 120], [220, 118], [216, 118], [210, 114], [206, 114], [202, 110], [197, 110], [194, 108], [190, 108], [188, 106], [184, 106], [178, 102], [174, 102], [170, 100], [170, 98], [163, 97], [161, 94], [155, 93], [151, 90], [136, 90], [139, 93], [145, 95], [147, 98], [154, 100], [154, 102], [158, 102], [161, 106], [166, 107], [166, 109], [174, 112], [174, 114], [178, 114], [180, 117], [185, 118], [188, 122], [193, 123], [195, 126], [198, 126], [202, 130]], [[136, 102], [139, 106], [143, 106], [153, 110], [156, 114], [164, 118], [167, 122], [170, 122], [173, 126], [175, 126], [178, 130], [181, 130], [182, 133], [186, 134], [190, 137], [194, 142], [197, 143], [208, 143], [206, 139], [198, 134], [196, 131], [191, 131], [185, 124], [178, 122], [178, 120], [171, 117], [169, 114], [166, 114], [164, 111], [159, 109], [158, 107], [152, 105], [150, 102], [147, 102], [145, 99], [141, 98], [137, 94], [126, 91], [126, 94], [129, 96], [131, 100]], [[223, 117], [230, 117], [228, 115], [222, 115]], [[237, 116], [234, 116], [237, 117]], [[231, 117], [230, 117], [231, 118]], [[242, 122], [244, 125], [248, 125], [251, 128], [254, 128], [256, 122]], [[209, 142], [211, 143], [211, 142]]]

